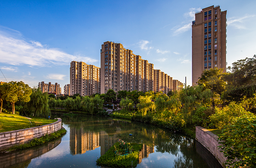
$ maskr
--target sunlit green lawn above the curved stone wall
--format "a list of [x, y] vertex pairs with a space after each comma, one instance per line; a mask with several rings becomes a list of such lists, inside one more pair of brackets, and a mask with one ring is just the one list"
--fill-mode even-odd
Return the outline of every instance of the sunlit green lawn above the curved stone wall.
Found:
[[30, 117], [30, 118], [32, 118], [30, 119], [31, 123], [29, 119], [16, 114], [0, 113], [0, 132], [25, 129], [25, 128], [30, 128], [35, 126], [42, 126], [42, 125], [46, 125], [46, 124], [50, 124], [55, 121], [58, 121], [57, 119], [49, 120], [45, 118], [36, 118], [36, 117]]

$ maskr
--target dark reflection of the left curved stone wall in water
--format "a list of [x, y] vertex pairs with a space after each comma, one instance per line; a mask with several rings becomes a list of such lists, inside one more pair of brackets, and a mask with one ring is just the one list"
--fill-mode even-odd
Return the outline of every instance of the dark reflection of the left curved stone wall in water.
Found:
[[10, 153], [0, 153], [0, 168], [27, 167], [30, 164], [31, 159], [36, 158], [52, 150], [60, 143], [61, 138], [58, 138], [56, 140], [50, 141], [49, 143], [45, 143], [40, 146], [35, 146], [24, 150], [17, 150]]

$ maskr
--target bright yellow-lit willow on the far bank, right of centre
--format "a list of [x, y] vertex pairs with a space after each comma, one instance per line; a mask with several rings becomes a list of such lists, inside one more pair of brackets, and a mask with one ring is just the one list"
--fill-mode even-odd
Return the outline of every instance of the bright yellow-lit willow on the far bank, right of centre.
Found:
[[155, 103], [152, 101], [152, 96], [140, 96], [137, 108], [139, 112], [142, 112], [143, 116], [145, 116], [149, 110], [155, 110]]

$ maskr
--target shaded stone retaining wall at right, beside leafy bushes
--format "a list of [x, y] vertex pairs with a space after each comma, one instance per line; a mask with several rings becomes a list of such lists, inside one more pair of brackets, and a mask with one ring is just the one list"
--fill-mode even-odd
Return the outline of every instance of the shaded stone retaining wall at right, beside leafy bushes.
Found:
[[218, 141], [217, 135], [201, 126], [196, 126], [196, 140], [208, 149], [219, 160], [222, 166], [224, 165], [226, 157], [224, 157], [218, 148], [221, 144]]

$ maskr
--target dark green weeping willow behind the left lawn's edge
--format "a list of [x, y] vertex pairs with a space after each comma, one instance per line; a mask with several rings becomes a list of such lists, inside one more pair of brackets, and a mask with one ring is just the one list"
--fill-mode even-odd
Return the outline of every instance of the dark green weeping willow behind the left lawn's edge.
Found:
[[33, 113], [33, 116], [48, 115], [50, 114], [48, 102], [48, 93], [42, 93], [40, 88], [34, 87], [26, 108]]

